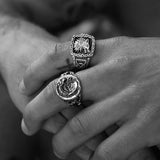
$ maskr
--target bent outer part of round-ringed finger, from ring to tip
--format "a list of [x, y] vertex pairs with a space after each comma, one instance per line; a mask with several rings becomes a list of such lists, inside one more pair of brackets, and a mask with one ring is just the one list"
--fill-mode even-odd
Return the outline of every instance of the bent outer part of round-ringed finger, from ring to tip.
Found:
[[68, 104], [57, 96], [55, 83], [52, 81], [26, 106], [22, 121], [22, 130], [25, 134], [34, 134], [42, 122], [68, 108]]

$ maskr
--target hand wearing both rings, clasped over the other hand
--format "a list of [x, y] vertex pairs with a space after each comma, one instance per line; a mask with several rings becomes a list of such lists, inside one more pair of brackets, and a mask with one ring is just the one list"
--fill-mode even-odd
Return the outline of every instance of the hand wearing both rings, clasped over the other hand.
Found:
[[[52, 59], [58, 56], [63, 63], [65, 60], [69, 62], [68, 65], [59, 68], [46, 56], [43, 61], [38, 59], [25, 75], [22, 83], [24, 93], [30, 94], [38, 89], [45, 80], [54, 76], [55, 70], [72, 69], [69, 50], [66, 48], [62, 52], [60, 46], [57, 45], [57, 54], [52, 55]], [[54, 136], [55, 152], [66, 157], [115, 123], [121, 124], [120, 128], [97, 147], [93, 160], [126, 159], [141, 148], [157, 145], [160, 142], [159, 51], [157, 38], [120, 37], [97, 41], [91, 68], [77, 73], [83, 87], [83, 100], [90, 100], [92, 104]], [[68, 58], [64, 59], [64, 55]], [[34, 134], [49, 116], [67, 108], [67, 104], [55, 94], [54, 87], [50, 82], [26, 106], [24, 131]]]

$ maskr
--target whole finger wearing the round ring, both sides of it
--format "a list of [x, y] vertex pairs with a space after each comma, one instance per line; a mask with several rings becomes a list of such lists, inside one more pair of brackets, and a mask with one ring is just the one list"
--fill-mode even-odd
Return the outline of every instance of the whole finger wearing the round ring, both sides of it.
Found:
[[[107, 65], [107, 67], [104, 70], [102, 64], [77, 73], [81, 81], [83, 101], [101, 101], [107, 96], [120, 92], [128, 85], [129, 81], [124, 81], [124, 76], [119, 73], [117, 65], [116, 68], [114, 63], [113, 66]], [[104, 85], [102, 79], [105, 79], [107, 85]], [[55, 81], [52, 81], [26, 106], [24, 119], [30, 133], [37, 132], [44, 120], [68, 107], [67, 103], [57, 96], [55, 90]]]

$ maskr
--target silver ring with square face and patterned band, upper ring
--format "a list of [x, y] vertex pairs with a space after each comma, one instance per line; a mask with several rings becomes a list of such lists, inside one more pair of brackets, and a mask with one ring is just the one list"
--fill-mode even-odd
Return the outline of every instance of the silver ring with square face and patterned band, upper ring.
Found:
[[91, 57], [95, 52], [95, 38], [81, 33], [73, 35], [71, 40], [71, 56], [76, 69], [82, 70], [88, 67]]

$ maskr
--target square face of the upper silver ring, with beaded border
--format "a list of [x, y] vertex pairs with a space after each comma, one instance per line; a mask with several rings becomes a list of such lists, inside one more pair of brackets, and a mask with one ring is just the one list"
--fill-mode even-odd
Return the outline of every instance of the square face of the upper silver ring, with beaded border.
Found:
[[92, 57], [95, 50], [95, 38], [88, 34], [79, 34], [72, 37], [71, 54], [76, 57]]

